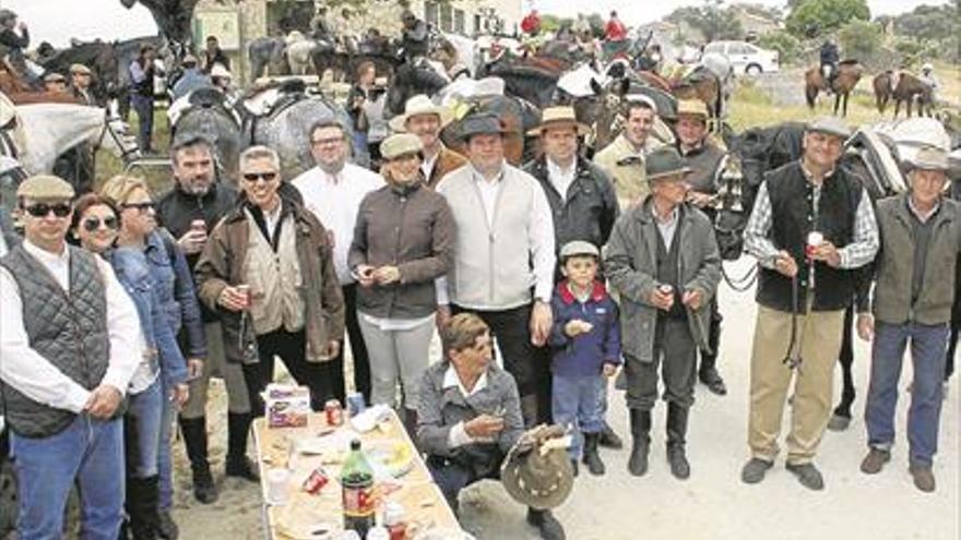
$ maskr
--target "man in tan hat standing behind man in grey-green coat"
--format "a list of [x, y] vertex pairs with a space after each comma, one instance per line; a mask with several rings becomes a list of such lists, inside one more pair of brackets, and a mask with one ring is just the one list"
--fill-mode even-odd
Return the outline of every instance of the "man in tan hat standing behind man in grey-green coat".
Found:
[[[674, 131], [677, 135], [677, 151], [684, 157], [685, 165], [691, 169], [691, 175], [688, 177], [691, 191], [688, 197], [713, 223], [716, 211], [711, 204], [717, 194], [720, 176], [727, 153], [708, 136], [709, 119], [710, 113], [704, 101], [700, 99], [677, 101], [677, 121], [674, 123]], [[708, 332], [711, 351], [702, 350], [700, 353], [701, 365], [698, 369], [698, 379], [708, 386], [708, 389], [720, 396], [727, 394], [727, 387], [716, 367], [722, 320], [715, 298], [711, 303], [711, 326]]]

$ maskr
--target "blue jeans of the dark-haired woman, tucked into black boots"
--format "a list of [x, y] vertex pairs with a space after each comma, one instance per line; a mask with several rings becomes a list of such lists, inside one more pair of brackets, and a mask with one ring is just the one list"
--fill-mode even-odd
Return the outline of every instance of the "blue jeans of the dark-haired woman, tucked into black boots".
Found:
[[161, 449], [164, 384], [158, 380], [140, 394], [131, 394], [123, 417], [127, 471], [131, 478], [157, 475]]

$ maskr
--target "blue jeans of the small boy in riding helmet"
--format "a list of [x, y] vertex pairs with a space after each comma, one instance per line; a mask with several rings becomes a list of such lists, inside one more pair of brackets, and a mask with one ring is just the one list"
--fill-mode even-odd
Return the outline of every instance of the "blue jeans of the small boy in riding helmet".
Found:
[[581, 457], [583, 433], [600, 433], [604, 429], [601, 400], [607, 387], [607, 377], [554, 375], [554, 423], [570, 428], [573, 436], [568, 452], [571, 459]]

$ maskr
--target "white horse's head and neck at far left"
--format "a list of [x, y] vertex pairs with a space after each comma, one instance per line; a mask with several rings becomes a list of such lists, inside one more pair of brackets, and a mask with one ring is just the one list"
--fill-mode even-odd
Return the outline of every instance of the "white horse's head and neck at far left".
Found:
[[19, 105], [16, 117], [22, 130], [16, 137], [19, 160], [32, 175], [49, 173], [57, 157], [78, 144], [104, 147], [121, 159], [139, 154], [127, 124], [106, 110], [85, 105]]

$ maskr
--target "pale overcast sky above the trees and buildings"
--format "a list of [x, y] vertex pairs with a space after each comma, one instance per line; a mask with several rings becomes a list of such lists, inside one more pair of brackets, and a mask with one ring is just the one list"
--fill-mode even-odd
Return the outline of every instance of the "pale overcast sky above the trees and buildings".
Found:
[[[524, 2], [527, 10], [530, 0]], [[768, 5], [784, 5], [786, 0], [750, 0]], [[946, 0], [868, 0], [871, 14], [898, 14], [923, 3], [939, 4]], [[629, 24], [656, 21], [681, 5], [701, 5], [701, 0], [534, 0], [542, 13], [574, 15], [579, 11], [598, 11], [606, 16], [612, 9]], [[43, 40], [63, 46], [71, 37], [81, 39], [122, 39], [156, 34], [150, 12], [140, 4], [126, 10], [119, 0], [0, 0], [27, 23], [36, 46]], [[603, 7], [603, 8], [601, 8]]]

